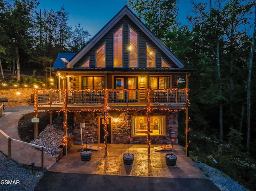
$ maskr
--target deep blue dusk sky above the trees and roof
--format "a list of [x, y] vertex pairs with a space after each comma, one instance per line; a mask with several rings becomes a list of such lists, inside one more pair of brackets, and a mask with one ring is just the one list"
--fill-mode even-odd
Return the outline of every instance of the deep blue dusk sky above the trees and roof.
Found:
[[[88, 30], [93, 37], [110, 19], [112, 19], [125, 5], [127, 0], [38, 0], [40, 5], [38, 10], [44, 8], [54, 11], [60, 10], [64, 5], [69, 12], [68, 25], [72, 30], [78, 23], [84, 30]], [[195, 0], [195, 2], [205, 2], [206, 0]], [[190, 0], [180, 0], [178, 4], [180, 11], [178, 18], [182, 24], [188, 25], [187, 14], [192, 14], [192, 4]]]

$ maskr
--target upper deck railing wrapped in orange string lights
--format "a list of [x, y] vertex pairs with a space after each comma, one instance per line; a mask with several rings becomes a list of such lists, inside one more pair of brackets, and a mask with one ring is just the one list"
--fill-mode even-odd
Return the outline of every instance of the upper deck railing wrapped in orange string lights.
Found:
[[39, 105], [186, 105], [187, 89], [148, 90], [36, 90], [35, 99]]

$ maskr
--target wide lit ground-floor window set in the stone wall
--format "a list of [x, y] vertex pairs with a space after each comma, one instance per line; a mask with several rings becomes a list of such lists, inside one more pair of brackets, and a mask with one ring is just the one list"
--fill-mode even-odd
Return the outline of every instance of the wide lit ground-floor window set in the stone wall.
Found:
[[[132, 116], [132, 135], [147, 136], [147, 117]], [[165, 116], [150, 116], [150, 136], [165, 135]]]

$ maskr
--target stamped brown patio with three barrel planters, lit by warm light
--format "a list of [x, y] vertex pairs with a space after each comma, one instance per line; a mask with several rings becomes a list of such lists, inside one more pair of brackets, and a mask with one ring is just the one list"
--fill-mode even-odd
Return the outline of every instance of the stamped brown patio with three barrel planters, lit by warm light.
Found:
[[165, 163], [165, 155], [170, 154], [170, 150], [154, 151], [154, 147], [160, 145], [151, 145], [149, 159], [147, 145], [130, 145], [129, 153], [134, 154], [132, 165], [124, 165], [122, 158], [123, 154], [128, 153], [128, 144], [109, 144], [107, 157], [104, 156], [104, 144], [95, 146], [102, 147], [102, 150], [92, 151], [90, 161], [82, 161], [80, 157], [82, 145], [74, 145], [68, 150], [68, 155], [63, 156], [48, 171], [140, 177], [206, 178], [194, 162], [186, 157], [179, 145], [173, 146], [173, 154], [177, 156], [175, 166], [168, 166]]

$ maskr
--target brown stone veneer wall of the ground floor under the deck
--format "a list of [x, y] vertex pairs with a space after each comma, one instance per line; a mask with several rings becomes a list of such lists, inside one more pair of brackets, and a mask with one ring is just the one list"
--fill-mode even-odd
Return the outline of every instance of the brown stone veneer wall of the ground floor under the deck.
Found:
[[[98, 143], [98, 118], [103, 112], [75, 112], [74, 113], [74, 144], [82, 144], [80, 123], [82, 128], [83, 144], [86, 144], [86, 130], [88, 130], [88, 144]], [[151, 144], [170, 144], [172, 138], [178, 143], [178, 112], [152, 110], [151, 116], [166, 116], [165, 136], [150, 136]], [[132, 116], [146, 116], [146, 110], [128, 110], [122, 112], [118, 122], [112, 122], [112, 144], [128, 144], [127, 137], [131, 135]], [[111, 117], [108, 115], [108, 117]], [[131, 144], [147, 144], [146, 136], [131, 136]]]

